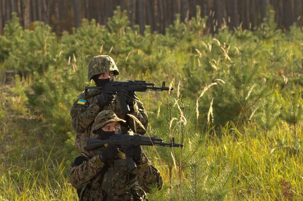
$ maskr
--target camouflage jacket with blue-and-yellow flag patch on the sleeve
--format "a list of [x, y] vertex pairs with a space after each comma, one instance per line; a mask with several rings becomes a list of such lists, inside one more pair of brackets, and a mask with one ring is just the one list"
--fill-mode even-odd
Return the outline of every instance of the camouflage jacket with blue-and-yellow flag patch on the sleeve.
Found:
[[[86, 149], [86, 138], [90, 133], [90, 125], [93, 123], [96, 115], [102, 110], [112, 110], [121, 119], [127, 121], [125, 126], [122, 126], [122, 132], [126, 133], [129, 128], [140, 135], [144, 135], [148, 126], [147, 113], [143, 107], [143, 103], [135, 95], [135, 103], [130, 106], [131, 115], [134, 115], [140, 122], [141, 125], [136, 123], [134, 119], [129, 116], [124, 116], [121, 110], [119, 98], [116, 96], [113, 104], [100, 108], [97, 105], [97, 94], [100, 90], [90, 90], [89, 96], [86, 98], [84, 91], [78, 96], [74, 102], [70, 115], [72, 116], [72, 125], [77, 132], [76, 137], [76, 149], [78, 152], [85, 152]], [[142, 127], [143, 125], [143, 127]]]

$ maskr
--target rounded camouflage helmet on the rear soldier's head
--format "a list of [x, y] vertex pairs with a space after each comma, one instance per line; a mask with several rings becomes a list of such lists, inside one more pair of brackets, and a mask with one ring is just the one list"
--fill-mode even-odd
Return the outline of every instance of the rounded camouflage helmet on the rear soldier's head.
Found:
[[88, 82], [96, 75], [113, 71], [115, 75], [119, 75], [119, 70], [112, 57], [109, 55], [94, 56], [87, 65]]

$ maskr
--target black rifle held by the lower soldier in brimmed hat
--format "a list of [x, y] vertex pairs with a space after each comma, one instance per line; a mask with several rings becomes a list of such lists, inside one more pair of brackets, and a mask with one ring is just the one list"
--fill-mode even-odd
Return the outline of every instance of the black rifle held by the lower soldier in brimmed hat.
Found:
[[[87, 138], [87, 151], [102, 148], [106, 144], [120, 145], [122, 149], [126, 145], [134, 146], [163, 146], [163, 147], [183, 147], [183, 144], [175, 143], [172, 138], [171, 143], [164, 143], [161, 138], [148, 137], [148, 136], [129, 136], [129, 135], [113, 135], [108, 140], [101, 140], [96, 138]], [[134, 170], [137, 166], [131, 157], [126, 157], [127, 168], [129, 172]]]

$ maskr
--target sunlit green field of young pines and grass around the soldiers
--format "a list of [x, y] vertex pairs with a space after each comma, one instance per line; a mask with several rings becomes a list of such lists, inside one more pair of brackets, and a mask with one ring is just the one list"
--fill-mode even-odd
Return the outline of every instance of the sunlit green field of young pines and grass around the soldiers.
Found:
[[114, 58], [118, 80], [174, 87], [138, 93], [147, 135], [184, 144], [144, 148], [165, 180], [149, 200], [302, 199], [301, 18], [279, 29], [266, 11], [252, 30], [223, 21], [213, 35], [200, 7], [185, 21], [177, 14], [165, 34], [145, 26], [142, 35], [121, 7], [106, 26], [82, 19], [59, 36], [40, 21], [24, 29], [13, 13], [0, 36], [0, 200], [76, 199], [69, 110], [92, 85], [87, 63], [97, 54]]

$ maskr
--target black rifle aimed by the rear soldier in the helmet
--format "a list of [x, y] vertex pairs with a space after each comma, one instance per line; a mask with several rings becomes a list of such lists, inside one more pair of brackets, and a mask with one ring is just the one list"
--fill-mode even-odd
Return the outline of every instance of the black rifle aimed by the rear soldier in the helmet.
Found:
[[121, 90], [127, 90], [129, 92], [145, 92], [147, 90], [152, 91], [168, 91], [173, 90], [174, 88], [165, 87], [165, 82], [162, 83], [162, 87], [155, 87], [154, 83], [147, 83], [143, 80], [128, 80], [126, 82], [108, 82], [103, 87], [85, 87], [85, 97], [89, 98], [91, 96], [95, 96], [102, 91], [99, 91], [97, 93], [93, 93], [92, 95], [88, 95], [87, 90], [88, 89], [99, 89], [102, 91], [115, 91], [119, 95], [119, 100], [121, 104], [121, 109], [124, 115], [130, 113], [129, 105], [126, 103], [126, 100], [121, 96]]

